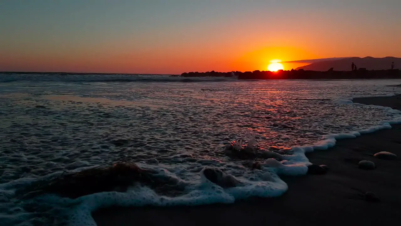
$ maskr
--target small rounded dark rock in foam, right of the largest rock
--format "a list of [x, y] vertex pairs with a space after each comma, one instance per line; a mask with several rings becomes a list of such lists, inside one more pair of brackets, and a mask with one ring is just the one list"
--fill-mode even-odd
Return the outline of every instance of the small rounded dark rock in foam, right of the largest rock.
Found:
[[202, 173], [206, 179], [223, 188], [236, 187], [240, 184], [235, 177], [227, 175], [218, 168], [205, 168]]

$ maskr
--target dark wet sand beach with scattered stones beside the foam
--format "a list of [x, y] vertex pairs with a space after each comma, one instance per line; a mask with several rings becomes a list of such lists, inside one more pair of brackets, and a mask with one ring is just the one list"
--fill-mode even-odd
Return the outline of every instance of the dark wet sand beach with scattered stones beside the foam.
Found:
[[[399, 97], [354, 99], [354, 102], [401, 107]], [[381, 160], [379, 151], [397, 154]], [[326, 175], [282, 177], [289, 190], [282, 197], [254, 198], [235, 204], [195, 207], [108, 208], [94, 212], [98, 226], [140, 225], [385, 225], [401, 220], [401, 125], [356, 139], [339, 140], [334, 148], [307, 155], [310, 162], [326, 164]], [[377, 169], [358, 168], [371, 160]], [[374, 192], [380, 203], [367, 202], [359, 193]]]

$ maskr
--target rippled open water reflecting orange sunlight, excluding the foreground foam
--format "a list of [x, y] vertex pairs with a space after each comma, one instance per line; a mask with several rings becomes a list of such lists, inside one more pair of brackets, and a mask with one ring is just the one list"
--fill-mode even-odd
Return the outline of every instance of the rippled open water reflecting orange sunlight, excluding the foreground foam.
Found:
[[367, 129], [394, 114], [338, 100], [400, 92], [386, 86], [399, 80], [98, 77], [0, 82], [0, 183], [123, 157], [187, 181], [208, 165], [241, 177], [249, 169], [224, 155], [232, 140], [255, 137], [262, 148], [291, 148]]

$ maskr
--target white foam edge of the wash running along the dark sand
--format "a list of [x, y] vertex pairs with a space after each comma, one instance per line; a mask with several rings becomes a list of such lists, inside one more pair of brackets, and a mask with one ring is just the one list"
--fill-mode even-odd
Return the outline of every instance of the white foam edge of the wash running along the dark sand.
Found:
[[[389, 95], [392, 96], [392, 95]], [[339, 101], [337, 103], [356, 104], [351, 100]], [[383, 111], [397, 115], [398, 110], [389, 107], [381, 107]], [[294, 146], [291, 155], [286, 155], [281, 162], [269, 158], [261, 164], [262, 170], [257, 172], [255, 181], [247, 178], [238, 179], [243, 185], [229, 189], [223, 189], [201, 176], [201, 184], [189, 188], [190, 192], [179, 197], [165, 197], [156, 194], [146, 187], [136, 187], [127, 193], [103, 192], [81, 197], [82, 204], [71, 212], [71, 223], [74, 226], [93, 225], [95, 222], [91, 212], [98, 208], [105, 208], [113, 205], [119, 206], [171, 206], [171, 205], [205, 205], [212, 203], [233, 203], [237, 199], [247, 197], [275, 197], [285, 193], [288, 185], [277, 175], [305, 175], [308, 172], [309, 162], [305, 153], [314, 150], [327, 150], [335, 146], [340, 139], [350, 139], [361, 136], [361, 134], [373, 133], [380, 129], [390, 129], [392, 124], [401, 123], [401, 117], [395, 117], [391, 121], [381, 121], [368, 129], [353, 131], [350, 133], [330, 134], [323, 136], [323, 139], [312, 146]], [[178, 156], [177, 156], [178, 157]], [[168, 172], [168, 171], [165, 171]], [[169, 175], [171, 173], [168, 173]], [[203, 174], [201, 174], [203, 175]], [[230, 175], [233, 177], [232, 175]], [[267, 181], [266, 181], [267, 180]]]

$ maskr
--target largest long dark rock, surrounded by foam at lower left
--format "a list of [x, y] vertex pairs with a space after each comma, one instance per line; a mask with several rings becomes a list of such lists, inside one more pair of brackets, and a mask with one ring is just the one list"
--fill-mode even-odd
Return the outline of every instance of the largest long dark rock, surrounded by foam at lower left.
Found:
[[126, 191], [129, 186], [135, 184], [148, 186], [156, 193], [164, 195], [175, 195], [184, 191], [182, 184], [157, 173], [142, 169], [133, 162], [117, 162], [111, 166], [98, 166], [80, 172], [63, 173], [53, 179], [39, 180], [17, 189], [16, 195], [30, 198], [52, 193], [75, 199], [104, 191]]

